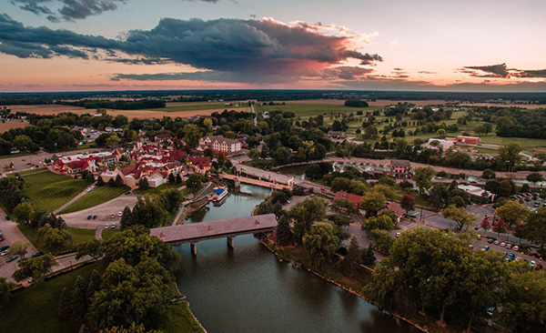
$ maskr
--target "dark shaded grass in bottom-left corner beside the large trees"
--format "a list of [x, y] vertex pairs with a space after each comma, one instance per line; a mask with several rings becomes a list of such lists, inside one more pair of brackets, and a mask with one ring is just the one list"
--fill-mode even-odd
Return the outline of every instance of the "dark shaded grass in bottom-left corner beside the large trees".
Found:
[[61, 291], [74, 285], [77, 276], [89, 278], [93, 269], [103, 272], [102, 262], [86, 265], [52, 278], [39, 287], [25, 288], [12, 295], [8, 306], [0, 314], [0, 332], [77, 332], [81, 323], [57, 317]]

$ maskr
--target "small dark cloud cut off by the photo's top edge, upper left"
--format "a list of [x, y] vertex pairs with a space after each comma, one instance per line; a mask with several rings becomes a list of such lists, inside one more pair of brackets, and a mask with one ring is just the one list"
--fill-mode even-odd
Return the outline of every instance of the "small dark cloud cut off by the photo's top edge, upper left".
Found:
[[[35, 15], [46, 15], [52, 22], [60, 19], [74, 21], [106, 11], [116, 10], [117, 4], [125, 0], [12, 0], [11, 3]], [[51, 7], [60, 6], [58, 10]]]

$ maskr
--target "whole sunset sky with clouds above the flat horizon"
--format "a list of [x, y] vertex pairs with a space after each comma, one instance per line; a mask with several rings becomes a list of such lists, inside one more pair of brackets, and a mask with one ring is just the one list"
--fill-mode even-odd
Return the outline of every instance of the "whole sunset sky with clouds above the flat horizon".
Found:
[[543, 0], [0, 5], [0, 92], [546, 92]]

